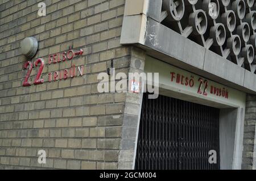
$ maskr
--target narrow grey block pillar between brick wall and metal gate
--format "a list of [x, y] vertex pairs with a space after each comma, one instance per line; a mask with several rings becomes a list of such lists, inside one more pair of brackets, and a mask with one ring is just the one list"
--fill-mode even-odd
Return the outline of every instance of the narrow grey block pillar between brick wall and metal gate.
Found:
[[[146, 52], [133, 47], [131, 49], [131, 60], [129, 73], [142, 73]], [[123, 125], [121, 135], [121, 145], [118, 155], [118, 169], [134, 169], [134, 158], [137, 149], [137, 135], [139, 120], [141, 117], [143, 92], [139, 94], [126, 93], [125, 112], [123, 114]]]

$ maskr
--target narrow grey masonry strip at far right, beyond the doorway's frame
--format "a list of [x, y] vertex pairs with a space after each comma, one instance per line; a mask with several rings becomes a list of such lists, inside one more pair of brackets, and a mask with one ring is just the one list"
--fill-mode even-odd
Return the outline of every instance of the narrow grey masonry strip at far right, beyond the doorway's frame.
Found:
[[246, 96], [245, 128], [243, 136], [243, 160], [242, 169], [256, 169], [256, 144], [255, 144], [255, 126], [256, 126], [256, 95]]

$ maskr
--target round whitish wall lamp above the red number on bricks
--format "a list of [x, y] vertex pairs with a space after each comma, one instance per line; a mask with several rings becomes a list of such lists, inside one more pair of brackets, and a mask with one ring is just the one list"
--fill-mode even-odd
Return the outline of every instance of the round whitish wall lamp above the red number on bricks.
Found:
[[35, 37], [26, 37], [20, 43], [20, 52], [24, 54], [27, 58], [32, 58], [35, 56], [38, 50], [38, 40]]

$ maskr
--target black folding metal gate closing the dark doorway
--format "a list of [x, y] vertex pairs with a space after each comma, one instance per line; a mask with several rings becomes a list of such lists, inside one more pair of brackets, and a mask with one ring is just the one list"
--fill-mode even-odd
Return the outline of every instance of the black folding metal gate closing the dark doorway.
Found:
[[[147, 95], [143, 96], [135, 169], [220, 169], [220, 110]], [[210, 150], [217, 152], [217, 163], [209, 163]]]

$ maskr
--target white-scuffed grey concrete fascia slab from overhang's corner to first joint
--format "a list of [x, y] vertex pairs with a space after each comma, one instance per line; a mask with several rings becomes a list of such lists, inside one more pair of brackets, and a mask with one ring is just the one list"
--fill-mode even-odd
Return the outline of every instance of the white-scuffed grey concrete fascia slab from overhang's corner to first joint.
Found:
[[184, 63], [203, 69], [205, 48], [180, 36], [178, 33], [148, 18], [146, 40], [147, 47], [158, 50]]

